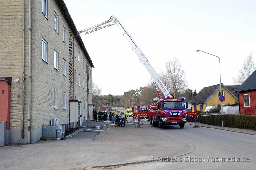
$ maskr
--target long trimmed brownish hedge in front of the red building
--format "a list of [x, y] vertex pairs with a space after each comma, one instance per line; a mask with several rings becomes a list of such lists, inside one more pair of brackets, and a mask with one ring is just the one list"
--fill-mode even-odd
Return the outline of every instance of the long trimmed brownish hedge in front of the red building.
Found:
[[[211, 115], [211, 114], [198, 114], [199, 122], [222, 126], [230, 128], [240, 128], [240, 129], [251, 129], [256, 130], [256, 115], [241, 115], [241, 114], [225, 114], [225, 115], [214, 115], [214, 116], [201, 116], [201, 115]], [[187, 116], [188, 121], [188, 116]]]

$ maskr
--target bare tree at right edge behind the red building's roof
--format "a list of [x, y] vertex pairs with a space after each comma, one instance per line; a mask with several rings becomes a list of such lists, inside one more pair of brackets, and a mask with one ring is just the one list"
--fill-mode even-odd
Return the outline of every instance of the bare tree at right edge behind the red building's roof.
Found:
[[244, 65], [239, 69], [238, 75], [233, 77], [233, 83], [241, 85], [256, 69], [256, 64], [252, 60], [252, 53], [247, 55]]

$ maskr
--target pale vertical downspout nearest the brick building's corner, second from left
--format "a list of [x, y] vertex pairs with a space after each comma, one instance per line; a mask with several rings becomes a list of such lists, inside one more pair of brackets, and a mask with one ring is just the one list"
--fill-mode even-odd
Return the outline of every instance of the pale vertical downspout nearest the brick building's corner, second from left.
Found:
[[28, 81], [28, 144], [31, 130], [31, 0], [29, 0], [29, 81]]

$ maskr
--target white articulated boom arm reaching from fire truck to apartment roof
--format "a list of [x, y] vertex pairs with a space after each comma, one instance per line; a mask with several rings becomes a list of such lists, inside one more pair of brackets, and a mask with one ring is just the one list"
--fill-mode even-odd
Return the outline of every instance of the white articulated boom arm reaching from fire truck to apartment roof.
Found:
[[[174, 98], [174, 96], [169, 92], [169, 90], [166, 88], [166, 86], [164, 85], [164, 83], [162, 82], [162, 80], [160, 79], [160, 77], [158, 76], [158, 74], [156, 73], [155, 69], [151, 66], [151, 64], [149, 63], [148, 59], [145, 57], [145, 55], [142, 53], [142, 51], [140, 50], [140, 48], [137, 46], [137, 44], [134, 42], [134, 40], [132, 39], [132, 37], [128, 34], [128, 32], [125, 30], [125, 28], [123, 27], [123, 25], [118, 21], [118, 19], [116, 19], [116, 17], [114, 17], [113, 15], [110, 17], [110, 19], [108, 21], [102, 22], [100, 24], [97, 24], [95, 26], [89, 27], [89, 28], [85, 28], [81, 31], [78, 32], [78, 34], [84, 33], [89, 34], [92, 33], [94, 31], [98, 31], [100, 29], [112, 26], [112, 25], [117, 25], [121, 32], [123, 33], [124, 38], [128, 41], [128, 43], [131, 45], [132, 50], [135, 52], [135, 54], [138, 56], [138, 58], [140, 59], [140, 62], [142, 62], [142, 64], [145, 66], [145, 68], [148, 70], [148, 73], [151, 75], [154, 83], [156, 83], [156, 85], [159, 87], [159, 89], [162, 91], [162, 93], [164, 94], [164, 97], [170, 97], [170, 98]], [[159, 96], [160, 97], [160, 96]]]

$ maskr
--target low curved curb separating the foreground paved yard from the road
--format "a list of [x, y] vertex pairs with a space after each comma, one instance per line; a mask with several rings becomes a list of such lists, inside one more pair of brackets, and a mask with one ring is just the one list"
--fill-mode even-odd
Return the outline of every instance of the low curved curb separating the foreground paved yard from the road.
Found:
[[[149, 128], [151, 128], [151, 127], [149, 127]], [[152, 129], [153, 129], [153, 128], [152, 128]], [[154, 129], [154, 130], [156, 130], [156, 129]], [[158, 130], [156, 130], [156, 131], [158, 131]], [[161, 131], [158, 131], [158, 132], [163, 133], [163, 132], [161, 132]], [[163, 134], [164, 134], [164, 135], [167, 135], [167, 134], [165, 134], [165, 133], [163, 133]], [[170, 136], [170, 135], [167, 135], [167, 136], [172, 137], [172, 136]], [[181, 154], [178, 154], [178, 155], [174, 155], [174, 156], [164, 156], [164, 157], [161, 157], [161, 158], [175, 158], [175, 157], [180, 157], [180, 156], [187, 155], [187, 154], [189, 154], [189, 153], [191, 153], [191, 152], [193, 152], [193, 151], [195, 150], [195, 147], [194, 147], [194, 146], [192, 146], [192, 145], [190, 145], [190, 144], [188, 144], [188, 143], [186, 143], [186, 142], [184, 142], [184, 141], [181, 141], [181, 140], [179, 140], [179, 139], [177, 139], [177, 138], [175, 138], [175, 137], [172, 137], [172, 138], [174, 138], [175, 140], [178, 140], [178, 141], [183, 142], [183, 143], [185, 143], [186, 145], [188, 145], [188, 146], [190, 147], [190, 151], [184, 152], [184, 153], [181, 153]], [[150, 156], [149, 156], [148, 158], [150, 158]], [[157, 162], [157, 160], [154, 160], [154, 161], [142, 160], [142, 161], [133, 161], [133, 162], [121, 163], [121, 164], [108, 164], [108, 165], [101, 165], [101, 166], [89, 166], [89, 167], [87, 167], [87, 168], [103, 168], [103, 167], [111, 167], [111, 166], [125, 166], [125, 165], [142, 164], [142, 163], [149, 163], [149, 162], [153, 163], [153, 162]]]

